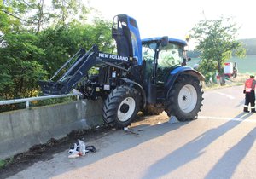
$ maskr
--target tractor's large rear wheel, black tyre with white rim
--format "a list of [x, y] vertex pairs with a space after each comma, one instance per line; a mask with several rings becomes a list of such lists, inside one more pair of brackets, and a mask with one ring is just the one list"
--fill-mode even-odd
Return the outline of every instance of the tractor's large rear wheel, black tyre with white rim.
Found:
[[197, 78], [187, 75], [177, 78], [167, 101], [166, 113], [168, 116], [175, 116], [178, 121], [196, 119], [201, 111], [202, 94]]

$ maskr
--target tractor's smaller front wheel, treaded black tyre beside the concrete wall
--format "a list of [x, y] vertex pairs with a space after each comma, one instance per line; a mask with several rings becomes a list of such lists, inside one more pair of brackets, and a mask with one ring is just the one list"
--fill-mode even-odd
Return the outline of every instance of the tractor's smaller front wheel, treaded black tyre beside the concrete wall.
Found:
[[114, 128], [124, 128], [136, 118], [141, 103], [139, 92], [128, 86], [112, 90], [104, 102], [103, 120]]

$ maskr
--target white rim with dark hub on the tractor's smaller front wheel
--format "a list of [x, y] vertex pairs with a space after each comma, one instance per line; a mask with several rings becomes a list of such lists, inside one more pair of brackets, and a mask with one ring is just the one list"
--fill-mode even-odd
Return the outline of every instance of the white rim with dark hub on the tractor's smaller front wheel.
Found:
[[120, 121], [125, 122], [131, 118], [132, 114], [134, 113], [136, 107], [135, 100], [131, 97], [125, 98], [118, 109], [118, 118]]

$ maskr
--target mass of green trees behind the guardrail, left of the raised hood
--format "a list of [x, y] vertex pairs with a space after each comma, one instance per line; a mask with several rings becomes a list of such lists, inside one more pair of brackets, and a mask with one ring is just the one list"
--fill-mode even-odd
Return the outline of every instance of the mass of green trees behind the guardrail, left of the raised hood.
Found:
[[[46, 3], [47, 2], [47, 3]], [[111, 52], [111, 23], [89, 18], [80, 0], [0, 0], [0, 98], [37, 95], [80, 48]], [[99, 15], [98, 15], [99, 16]]]

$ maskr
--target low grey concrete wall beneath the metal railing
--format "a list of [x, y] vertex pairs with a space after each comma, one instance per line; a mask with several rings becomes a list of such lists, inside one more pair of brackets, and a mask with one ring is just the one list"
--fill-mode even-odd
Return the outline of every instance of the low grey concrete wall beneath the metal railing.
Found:
[[0, 159], [26, 152], [72, 130], [101, 125], [102, 101], [73, 101], [0, 113]]

